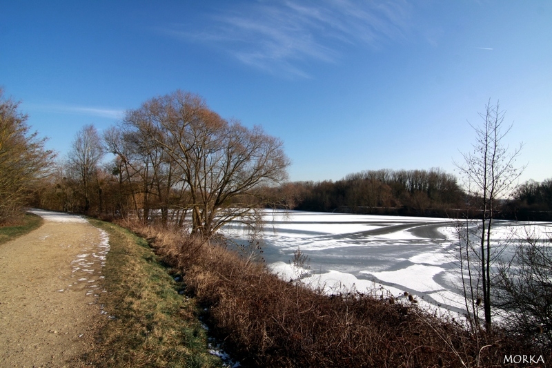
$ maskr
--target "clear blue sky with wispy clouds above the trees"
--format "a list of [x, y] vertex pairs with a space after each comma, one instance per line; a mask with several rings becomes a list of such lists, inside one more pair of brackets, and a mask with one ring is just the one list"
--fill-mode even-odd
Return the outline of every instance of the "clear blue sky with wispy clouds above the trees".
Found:
[[552, 177], [552, 1], [3, 1], [0, 86], [66, 155], [197, 93], [284, 141], [290, 180], [440, 167], [500, 101], [522, 180]]

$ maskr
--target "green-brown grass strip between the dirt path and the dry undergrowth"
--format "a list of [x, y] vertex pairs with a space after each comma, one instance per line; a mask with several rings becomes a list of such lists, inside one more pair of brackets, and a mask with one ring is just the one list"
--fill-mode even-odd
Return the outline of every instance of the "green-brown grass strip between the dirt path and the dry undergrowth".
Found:
[[114, 224], [90, 220], [109, 234], [99, 303], [106, 320], [83, 361], [95, 367], [221, 367], [208, 353], [195, 299], [181, 296], [148, 242]]

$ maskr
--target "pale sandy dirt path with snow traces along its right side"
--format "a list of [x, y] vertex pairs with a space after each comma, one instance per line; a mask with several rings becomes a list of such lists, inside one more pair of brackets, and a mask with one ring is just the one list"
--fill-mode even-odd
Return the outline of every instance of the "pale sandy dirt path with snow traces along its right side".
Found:
[[43, 226], [0, 245], [0, 367], [73, 367], [101, 320], [108, 235], [81, 217], [32, 212]]

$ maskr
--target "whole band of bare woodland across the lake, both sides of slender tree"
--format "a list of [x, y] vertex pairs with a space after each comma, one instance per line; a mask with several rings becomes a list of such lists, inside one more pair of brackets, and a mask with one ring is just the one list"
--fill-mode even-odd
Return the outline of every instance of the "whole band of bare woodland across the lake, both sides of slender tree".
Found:
[[[455, 175], [440, 168], [361, 171], [336, 182], [289, 182], [271, 191], [275, 206], [299, 211], [477, 217]], [[529, 180], [501, 204], [504, 219], [551, 220], [552, 179]]]

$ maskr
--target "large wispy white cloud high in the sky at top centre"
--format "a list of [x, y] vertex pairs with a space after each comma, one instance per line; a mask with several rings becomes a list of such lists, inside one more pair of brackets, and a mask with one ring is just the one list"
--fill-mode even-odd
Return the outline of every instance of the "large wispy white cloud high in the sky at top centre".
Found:
[[346, 46], [379, 47], [404, 38], [404, 1], [257, 2], [226, 8], [201, 22], [173, 24], [167, 35], [203, 43], [268, 72], [308, 77], [309, 61], [335, 63]]

